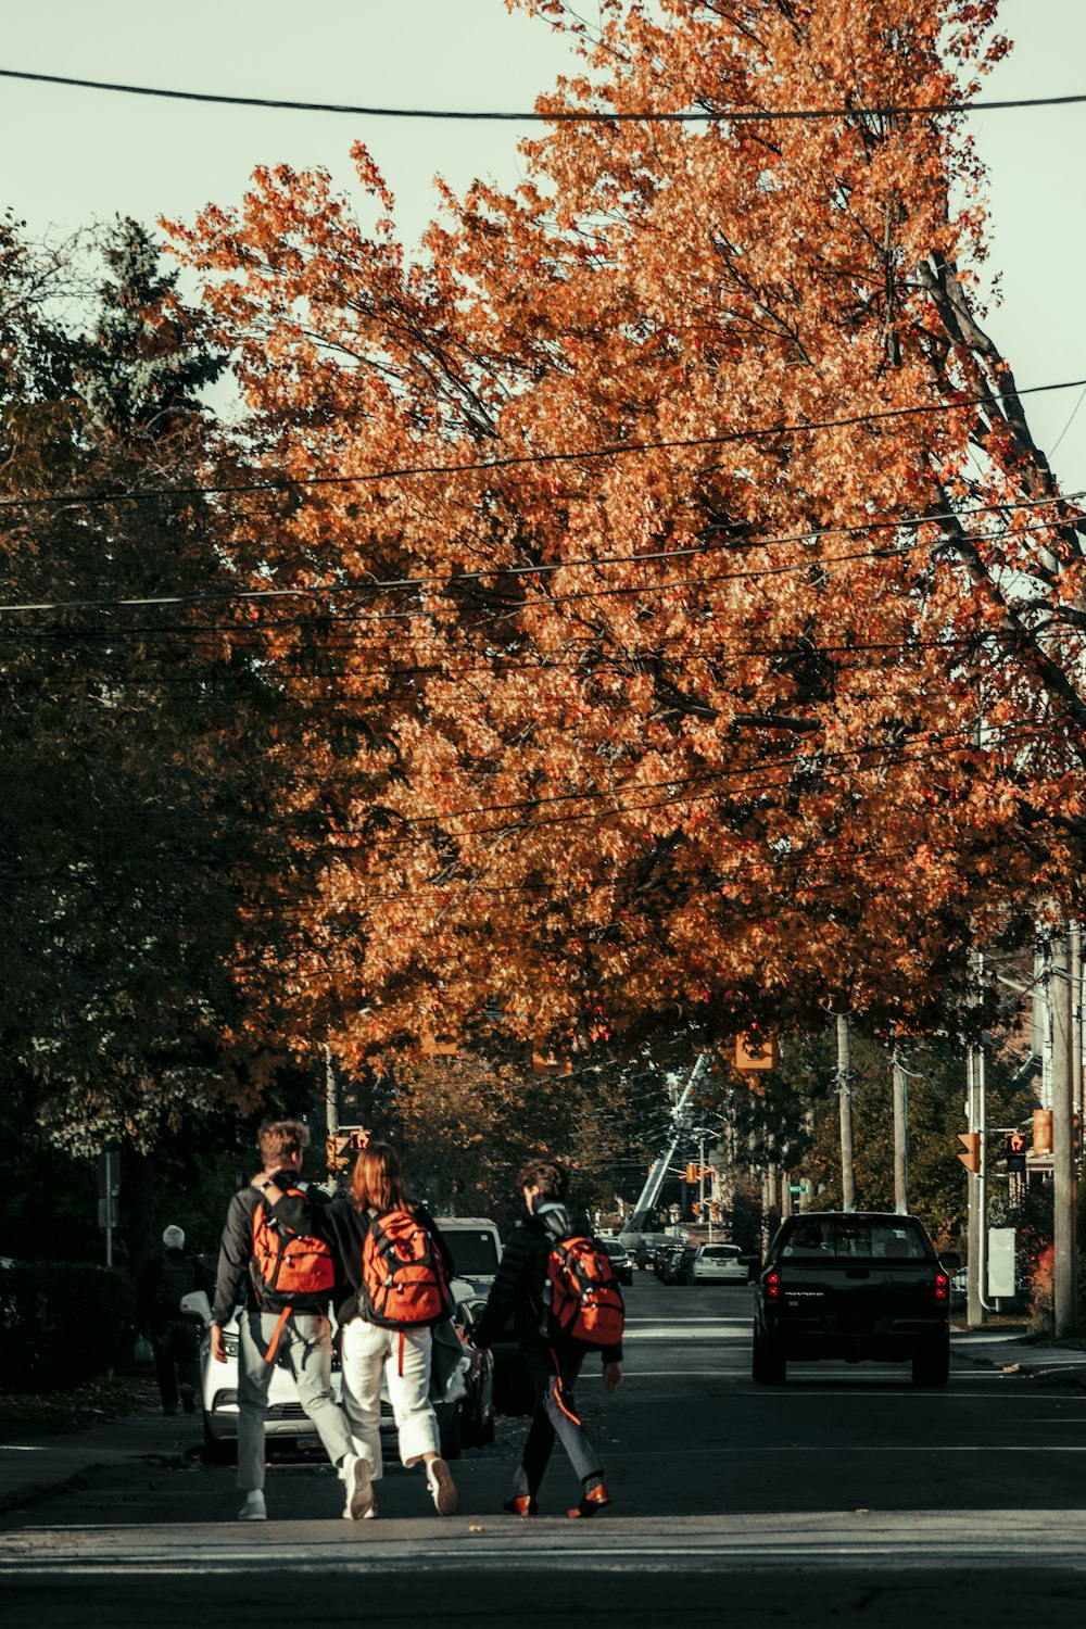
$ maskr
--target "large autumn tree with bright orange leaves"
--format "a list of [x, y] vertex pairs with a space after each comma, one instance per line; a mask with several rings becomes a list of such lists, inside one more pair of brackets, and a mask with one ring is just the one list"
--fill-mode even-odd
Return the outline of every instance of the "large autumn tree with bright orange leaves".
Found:
[[361, 145], [366, 225], [280, 168], [173, 228], [304, 720], [254, 1012], [353, 1064], [930, 1028], [975, 937], [1073, 904], [1083, 836], [1083, 521], [982, 326], [948, 111], [996, 3], [526, 10], [585, 73], [418, 261]]

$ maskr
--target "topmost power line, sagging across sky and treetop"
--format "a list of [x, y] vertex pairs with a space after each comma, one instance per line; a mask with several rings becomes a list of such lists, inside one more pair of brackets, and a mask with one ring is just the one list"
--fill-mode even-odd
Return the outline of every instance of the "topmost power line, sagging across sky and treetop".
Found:
[[278, 112], [334, 112], [363, 119], [451, 119], [505, 124], [716, 124], [749, 121], [816, 121], [816, 119], [892, 119], [892, 117], [943, 117], [969, 112], [1003, 112], [1011, 108], [1066, 108], [1086, 101], [1086, 94], [1071, 96], [1013, 96], [998, 101], [946, 101], [946, 103], [876, 103], [840, 108], [710, 108], [658, 112], [555, 109], [554, 112], [501, 112], [471, 108], [376, 108], [352, 103], [295, 101], [282, 96], [230, 96], [217, 91], [169, 90], [153, 85], [127, 85], [116, 80], [88, 80], [65, 73], [31, 73], [24, 68], [0, 68], [0, 78], [23, 80], [31, 85], [62, 85], [73, 90], [112, 91], [122, 96], [158, 96], [168, 101], [213, 103], [226, 108], [270, 108]]

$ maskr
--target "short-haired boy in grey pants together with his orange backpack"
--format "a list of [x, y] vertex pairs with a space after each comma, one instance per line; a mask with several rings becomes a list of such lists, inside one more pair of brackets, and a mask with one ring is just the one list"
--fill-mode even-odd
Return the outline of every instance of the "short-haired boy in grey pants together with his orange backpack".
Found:
[[[277, 1354], [298, 1385], [298, 1401], [313, 1420], [324, 1450], [345, 1482], [344, 1518], [366, 1515], [373, 1495], [366, 1461], [355, 1453], [350, 1429], [332, 1394], [332, 1326], [327, 1316], [335, 1266], [319, 1233], [327, 1194], [300, 1179], [309, 1129], [301, 1121], [272, 1121], [261, 1127], [262, 1170], [230, 1201], [218, 1253], [212, 1357], [226, 1362], [223, 1326], [234, 1308], [238, 1355], [238, 1487], [244, 1492], [241, 1521], [264, 1521], [264, 1420]], [[285, 1197], [295, 1201], [295, 1227], [274, 1215]]]

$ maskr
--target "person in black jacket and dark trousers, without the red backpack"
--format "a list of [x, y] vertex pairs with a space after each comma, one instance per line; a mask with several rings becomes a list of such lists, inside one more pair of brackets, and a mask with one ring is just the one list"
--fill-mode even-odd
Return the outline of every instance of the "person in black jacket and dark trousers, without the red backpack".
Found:
[[[558, 1220], [567, 1232], [589, 1232], [589, 1228], [583, 1217], [570, 1214], [562, 1204], [568, 1192], [570, 1175], [557, 1160], [547, 1155], [531, 1160], [521, 1171], [518, 1186], [524, 1194], [528, 1217], [518, 1223], [501, 1253], [487, 1308], [472, 1336], [475, 1347], [485, 1350], [513, 1313], [536, 1393], [536, 1412], [505, 1508], [518, 1517], [537, 1515], [536, 1495], [558, 1437], [581, 1481], [581, 1497], [567, 1515], [591, 1517], [609, 1505], [611, 1497], [604, 1487], [602, 1466], [573, 1403], [573, 1385], [586, 1349], [571, 1341], [554, 1341], [544, 1333], [544, 1284], [550, 1243], [555, 1236], [547, 1217], [550, 1215], [552, 1223]], [[565, 1215], [557, 1218], [555, 1212]], [[604, 1347], [599, 1355], [604, 1365], [604, 1385], [607, 1391], [617, 1391], [622, 1385], [622, 1346]]]

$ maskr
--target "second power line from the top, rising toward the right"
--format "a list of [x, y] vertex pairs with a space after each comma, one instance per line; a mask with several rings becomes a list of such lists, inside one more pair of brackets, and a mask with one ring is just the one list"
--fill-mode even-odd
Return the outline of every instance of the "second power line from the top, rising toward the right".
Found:
[[[300, 492], [319, 487], [368, 485], [376, 481], [404, 481], [412, 476], [462, 476], [485, 474], [492, 469], [515, 469], [532, 464], [586, 463], [602, 458], [628, 458], [635, 453], [666, 453], [679, 448], [726, 446], [736, 441], [765, 440], [775, 435], [806, 435], [812, 430], [848, 430], [861, 424], [879, 424], [887, 419], [905, 419], [935, 412], [959, 412], [967, 407], [983, 407], [993, 401], [1006, 397], [1039, 396], [1047, 391], [1071, 391], [1086, 386], [1086, 380], [1063, 380], [1058, 384], [1029, 384], [1013, 391], [985, 391], [982, 396], [957, 396], [951, 402], [918, 402], [912, 407], [884, 407], [874, 412], [850, 414], [847, 419], [816, 419], [798, 424], [752, 425], [746, 430], [729, 430], [726, 435], [677, 437], [661, 441], [615, 441], [606, 446], [575, 448], [567, 453], [510, 453], [505, 458], [484, 458], [472, 463], [458, 464], [401, 464], [389, 469], [373, 469], [358, 476], [283, 476], [277, 481], [241, 481], [233, 485], [187, 485], [187, 487], [137, 487], [125, 492], [55, 492], [37, 498], [0, 498], [2, 510], [34, 510], [81, 507], [99, 508], [114, 503], [151, 503], [158, 498], [190, 498], [190, 497], [230, 497], [252, 492]], [[1055, 502], [1055, 500], [1053, 500]], [[288, 593], [291, 590], [280, 590]]]

